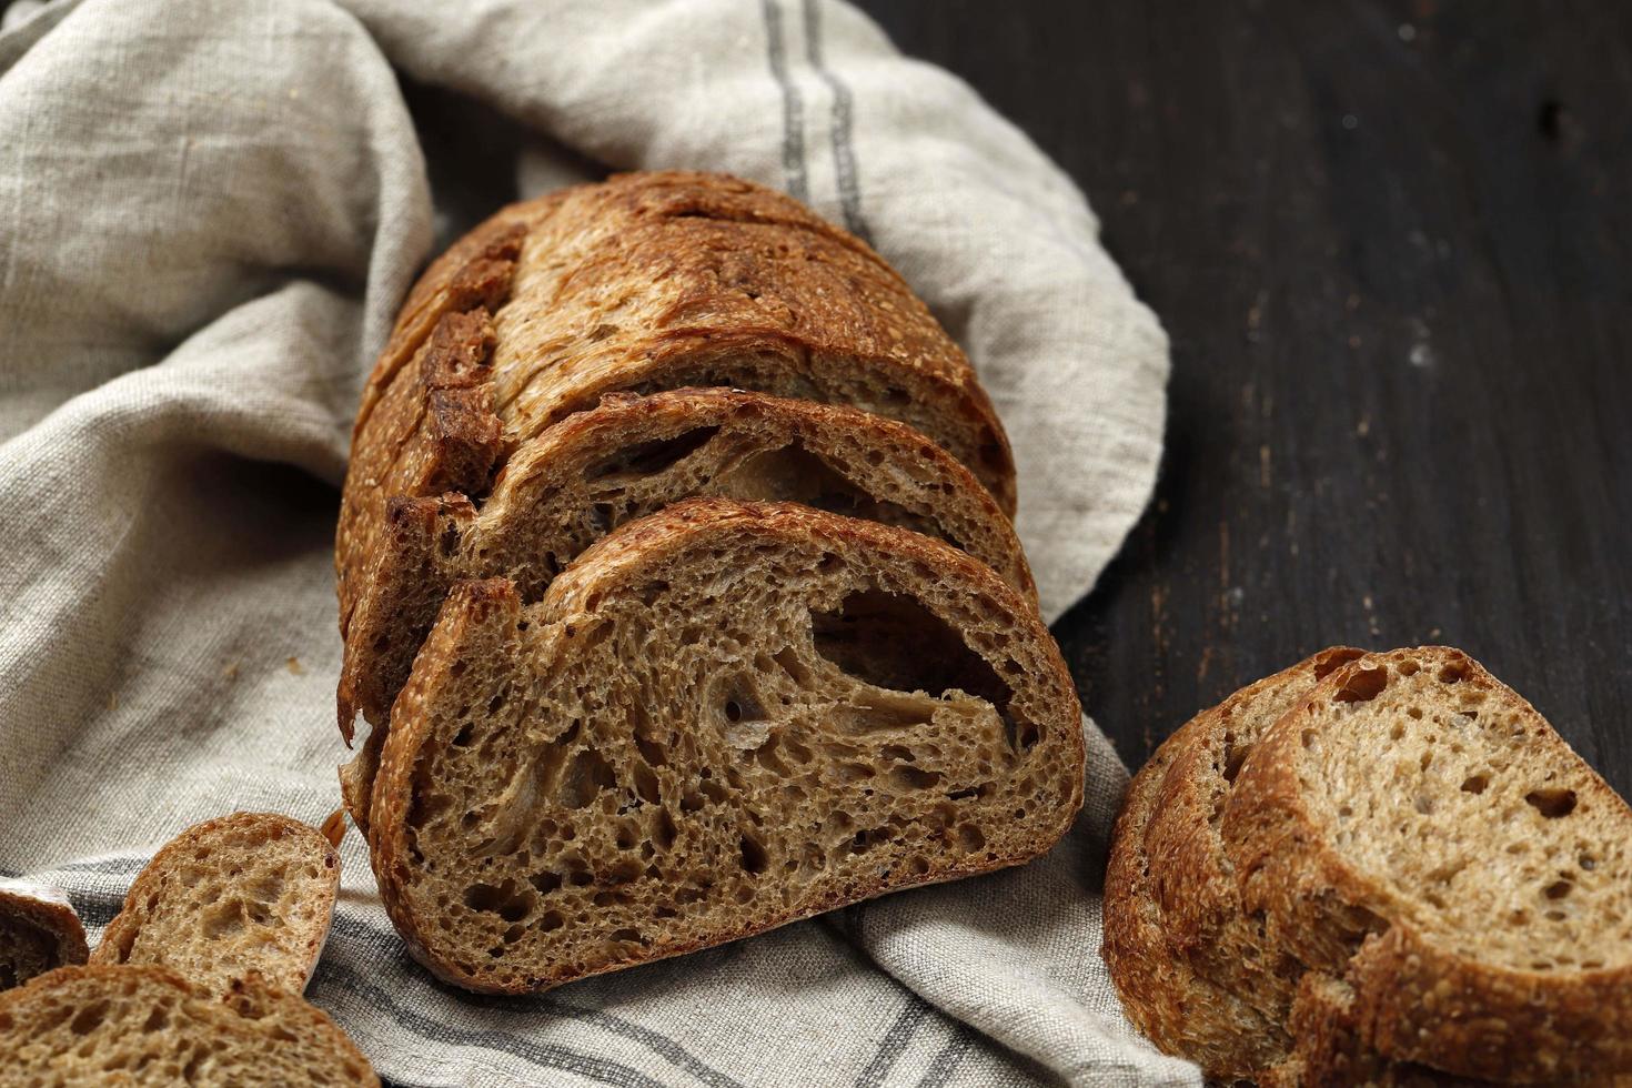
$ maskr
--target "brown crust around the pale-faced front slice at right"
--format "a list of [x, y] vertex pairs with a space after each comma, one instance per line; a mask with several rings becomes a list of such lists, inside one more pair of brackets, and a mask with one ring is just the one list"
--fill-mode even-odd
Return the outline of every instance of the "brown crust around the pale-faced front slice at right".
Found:
[[[1314, 801], [1319, 770], [1310, 754], [1340, 747], [1324, 737], [1335, 736], [1345, 705], [1368, 703], [1386, 685], [1418, 674], [1479, 693], [1479, 713], [1459, 719], [1462, 728], [1521, 723], [1528, 750], [1544, 750], [1563, 768], [1554, 773], [1567, 775], [1559, 781], [1568, 783], [1572, 806], [1632, 829], [1625, 801], [1528, 701], [1466, 654], [1446, 648], [1373, 654], [1328, 675], [1302, 706], [1281, 718], [1231, 793], [1222, 830], [1245, 910], [1263, 910], [1276, 940], [1306, 966], [1353, 987], [1355, 1031], [1377, 1054], [1492, 1080], [1549, 1081], [1632, 1070], [1627, 946], [1583, 949], [1583, 959], [1598, 956], [1603, 966], [1578, 969], [1524, 969], [1459, 954], [1446, 935], [1436, 935], [1433, 913], [1361, 866], [1327, 825]], [[1404, 728], [1404, 714], [1400, 721]], [[1464, 788], [1482, 793], [1485, 781], [1470, 780]], [[1407, 786], [1394, 789], [1394, 804], [1408, 809]], [[1514, 819], [1542, 816], [1519, 804]], [[1611, 863], [1621, 860], [1601, 861]]]

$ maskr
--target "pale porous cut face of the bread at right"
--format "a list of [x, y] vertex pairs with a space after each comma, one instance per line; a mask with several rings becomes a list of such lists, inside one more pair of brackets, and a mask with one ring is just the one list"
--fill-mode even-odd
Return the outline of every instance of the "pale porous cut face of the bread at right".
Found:
[[1395, 651], [1346, 675], [1297, 762], [1342, 860], [1472, 961], [1632, 962], [1632, 814], [1547, 721], [1462, 654]]

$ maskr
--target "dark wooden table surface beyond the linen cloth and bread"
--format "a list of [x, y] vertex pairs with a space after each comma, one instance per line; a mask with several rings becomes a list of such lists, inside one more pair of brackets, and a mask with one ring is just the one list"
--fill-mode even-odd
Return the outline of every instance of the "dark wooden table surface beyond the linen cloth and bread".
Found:
[[1155, 499], [1056, 626], [1123, 757], [1328, 643], [1449, 643], [1632, 796], [1632, 7], [865, 7], [1172, 336]]

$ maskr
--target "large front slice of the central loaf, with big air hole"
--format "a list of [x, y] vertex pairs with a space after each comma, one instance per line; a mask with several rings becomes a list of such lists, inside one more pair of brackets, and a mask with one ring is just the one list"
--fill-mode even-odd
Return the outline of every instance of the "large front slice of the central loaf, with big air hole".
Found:
[[369, 838], [436, 974], [490, 992], [1017, 865], [1082, 803], [1030, 602], [963, 551], [689, 499], [524, 607], [463, 582], [392, 710]]

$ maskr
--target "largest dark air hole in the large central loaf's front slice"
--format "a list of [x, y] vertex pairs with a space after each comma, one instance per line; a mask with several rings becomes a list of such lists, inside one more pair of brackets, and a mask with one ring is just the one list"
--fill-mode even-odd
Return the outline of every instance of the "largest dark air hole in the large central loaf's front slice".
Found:
[[[854, 592], [836, 612], [811, 612], [811, 635], [818, 654], [865, 683], [942, 698], [963, 692], [997, 710], [1015, 750], [1038, 741], [1033, 723], [1015, 721], [1010, 714], [1013, 690], [997, 670], [969, 649], [950, 625], [911, 597], [876, 589]], [[857, 713], [863, 731], [924, 719], [924, 708], [916, 700], [894, 700], [885, 693], [865, 700]]]

